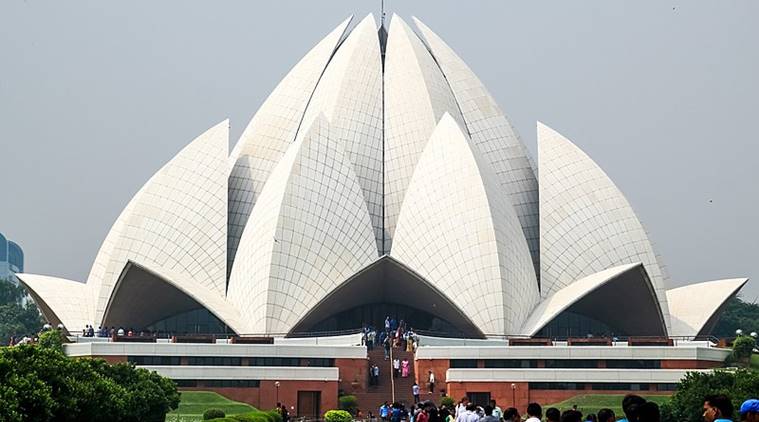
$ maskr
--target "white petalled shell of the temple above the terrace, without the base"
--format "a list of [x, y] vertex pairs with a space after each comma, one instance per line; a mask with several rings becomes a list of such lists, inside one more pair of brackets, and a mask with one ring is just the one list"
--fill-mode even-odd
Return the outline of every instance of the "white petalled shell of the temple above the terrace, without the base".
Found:
[[[480, 339], [709, 334], [747, 279], [669, 289], [631, 204], [577, 145], [538, 123], [533, 160], [426, 25], [352, 22], [231, 152], [224, 121], [161, 168], [86, 283], [19, 276], [45, 318], [69, 332], [293, 337], [392, 314]], [[690, 299], [702, 291], [713, 300]]]

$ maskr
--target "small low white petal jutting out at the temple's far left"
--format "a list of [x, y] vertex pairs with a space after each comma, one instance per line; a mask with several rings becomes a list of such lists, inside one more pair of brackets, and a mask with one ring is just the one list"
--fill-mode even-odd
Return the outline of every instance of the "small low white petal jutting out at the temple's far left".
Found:
[[93, 325], [88, 286], [78, 281], [35, 274], [16, 274], [53, 325], [63, 324], [69, 333], [81, 333], [85, 325]]

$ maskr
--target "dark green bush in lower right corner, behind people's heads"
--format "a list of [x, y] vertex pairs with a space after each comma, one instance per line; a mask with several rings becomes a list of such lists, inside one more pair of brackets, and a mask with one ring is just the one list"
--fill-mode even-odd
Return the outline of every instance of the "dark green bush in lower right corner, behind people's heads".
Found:
[[735, 409], [739, 409], [744, 400], [756, 397], [757, 392], [759, 372], [756, 371], [689, 372], [672, 398], [662, 405], [662, 422], [702, 422], [704, 397], [710, 394], [730, 397]]

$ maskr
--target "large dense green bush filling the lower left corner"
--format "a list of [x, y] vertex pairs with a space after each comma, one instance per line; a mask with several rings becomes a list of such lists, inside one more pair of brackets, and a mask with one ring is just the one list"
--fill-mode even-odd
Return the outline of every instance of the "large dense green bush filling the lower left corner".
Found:
[[0, 348], [3, 421], [163, 421], [178, 405], [173, 381], [131, 364], [69, 358], [54, 347]]

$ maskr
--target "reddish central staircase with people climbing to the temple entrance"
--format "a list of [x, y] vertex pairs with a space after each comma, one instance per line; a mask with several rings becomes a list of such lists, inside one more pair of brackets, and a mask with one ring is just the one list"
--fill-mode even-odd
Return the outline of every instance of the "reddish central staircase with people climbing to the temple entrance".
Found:
[[[406, 407], [410, 407], [414, 404], [414, 395], [411, 394], [411, 386], [414, 385], [414, 353], [397, 348], [393, 349], [393, 358], [396, 357], [401, 361], [404, 358], [408, 359], [410, 365], [408, 377], [403, 378], [398, 375], [395, 378], [395, 401], [405, 404]], [[376, 346], [373, 350], [367, 352], [367, 358], [369, 359], [369, 367], [374, 365], [379, 366], [379, 382], [377, 385], [368, 386], [365, 393], [357, 393], [356, 399], [358, 400], [359, 409], [361, 409], [365, 416], [370, 411], [375, 416], [379, 416], [379, 407], [383, 402], [387, 401], [392, 404], [393, 396], [390, 384], [391, 377], [393, 376], [392, 360], [385, 360], [385, 351], [382, 347]]]

